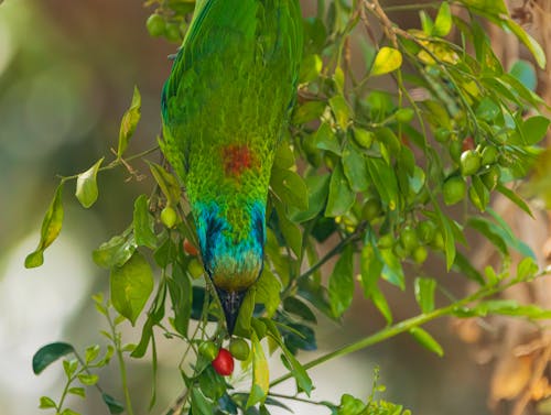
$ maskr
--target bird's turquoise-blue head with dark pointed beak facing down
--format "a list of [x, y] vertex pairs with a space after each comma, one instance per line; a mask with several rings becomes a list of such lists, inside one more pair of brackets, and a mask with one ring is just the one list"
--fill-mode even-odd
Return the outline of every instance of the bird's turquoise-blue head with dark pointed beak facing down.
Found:
[[263, 267], [264, 209], [257, 205], [246, 209], [242, 217], [249, 223], [234, 223], [216, 208], [203, 208], [196, 216], [203, 265], [218, 294], [229, 334], [247, 291]]

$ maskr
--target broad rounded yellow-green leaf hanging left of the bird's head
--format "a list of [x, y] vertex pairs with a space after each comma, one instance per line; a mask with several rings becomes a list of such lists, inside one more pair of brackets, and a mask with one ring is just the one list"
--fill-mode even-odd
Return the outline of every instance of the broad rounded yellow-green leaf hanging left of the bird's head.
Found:
[[115, 309], [133, 326], [153, 291], [151, 266], [143, 255], [136, 251], [122, 266], [111, 270], [110, 283]]

